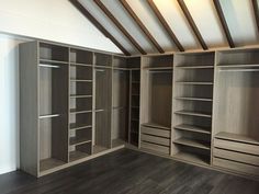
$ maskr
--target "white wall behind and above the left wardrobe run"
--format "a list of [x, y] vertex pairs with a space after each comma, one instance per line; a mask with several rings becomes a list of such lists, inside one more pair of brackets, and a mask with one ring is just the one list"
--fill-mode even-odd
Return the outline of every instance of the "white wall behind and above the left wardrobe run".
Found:
[[[121, 53], [68, 0], [0, 0], [0, 31]], [[26, 39], [27, 41], [27, 39]], [[0, 174], [19, 168], [19, 43], [0, 34]]]

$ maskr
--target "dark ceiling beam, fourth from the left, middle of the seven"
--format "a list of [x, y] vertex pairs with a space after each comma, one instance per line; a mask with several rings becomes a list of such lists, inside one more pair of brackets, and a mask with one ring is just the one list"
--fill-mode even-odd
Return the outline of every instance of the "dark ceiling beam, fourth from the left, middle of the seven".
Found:
[[153, 12], [156, 14], [157, 19], [159, 20], [159, 22], [162, 24], [162, 26], [165, 27], [167, 34], [170, 36], [170, 38], [172, 39], [172, 42], [177, 45], [178, 49], [180, 52], [184, 52], [183, 46], [181, 45], [181, 43], [178, 41], [176, 34], [172, 32], [171, 27], [169, 26], [169, 24], [167, 23], [167, 21], [165, 20], [165, 18], [162, 16], [162, 14], [160, 13], [160, 11], [158, 10], [157, 5], [155, 4], [155, 2], [153, 0], [147, 0], [149, 7], [151, 8]]

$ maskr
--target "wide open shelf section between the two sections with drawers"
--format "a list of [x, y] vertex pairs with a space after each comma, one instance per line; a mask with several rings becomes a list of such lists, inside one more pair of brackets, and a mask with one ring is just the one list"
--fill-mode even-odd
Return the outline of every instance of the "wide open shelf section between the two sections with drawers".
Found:
[[210, 164], [214, 53], [174, 55], [172, 149], [174, 158]]

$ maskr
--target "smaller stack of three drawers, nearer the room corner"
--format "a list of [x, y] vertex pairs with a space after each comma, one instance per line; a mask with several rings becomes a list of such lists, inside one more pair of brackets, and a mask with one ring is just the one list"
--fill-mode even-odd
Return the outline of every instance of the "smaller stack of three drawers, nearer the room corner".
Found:
[[140, 148], [162, 155], [170, 153], [170, 129], [153, 126], [142, 126]]

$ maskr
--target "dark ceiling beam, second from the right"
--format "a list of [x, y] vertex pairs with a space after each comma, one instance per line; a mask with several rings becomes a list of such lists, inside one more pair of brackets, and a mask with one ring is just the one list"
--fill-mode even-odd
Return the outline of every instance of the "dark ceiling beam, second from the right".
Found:
[[234, 42], [233, 42], [230, 31], [229, 31], [229, 28], [228, 28], [228, 26], [227, 26], [227, 22], [226, 22], [226, 19], [225, 19], [225, 16], [224, 16], [224, 13], [223, 13], [221, 2], [219, 2], [219, 0], [213, 0], [213, 2], [214, 2], [214, 5], [215, 5], [217, 15], [218, 15], [218, 18], [219, 18], [219, 21], [221, 21], [221, 23], [222, 23], [222, 27], [223, 27], [223, 30], [224, 30], [224, 32], [225, 32], [225, 35], [226, 35], [228, 45], [229, 45], [230, 48], [234, 48], [234, 47], [235, 47], [235, 44], [234, 44]]

